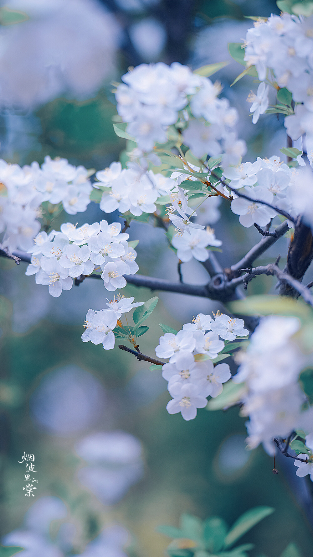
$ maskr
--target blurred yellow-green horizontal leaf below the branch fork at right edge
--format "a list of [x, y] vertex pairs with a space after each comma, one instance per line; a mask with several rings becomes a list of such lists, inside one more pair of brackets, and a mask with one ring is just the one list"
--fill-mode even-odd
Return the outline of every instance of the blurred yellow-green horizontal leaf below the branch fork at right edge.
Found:
[[306, 321], [312, 319], [310, 307], [301, 300], [283, 296], [260, 295], [248, 296], [245, 300], [229, 302], [227, 307], [234, 314], [240, 315], [294, 315]]

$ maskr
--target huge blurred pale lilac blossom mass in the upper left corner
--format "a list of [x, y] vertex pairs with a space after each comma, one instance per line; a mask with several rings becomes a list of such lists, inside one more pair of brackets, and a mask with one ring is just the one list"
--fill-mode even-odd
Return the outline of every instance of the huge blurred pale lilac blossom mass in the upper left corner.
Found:
[[110, 76], [120, 27], [96, 0], [8, 0], [29, 16], [1, 27], [3, 105], [33, 108], [68, 92], [93, 94]]

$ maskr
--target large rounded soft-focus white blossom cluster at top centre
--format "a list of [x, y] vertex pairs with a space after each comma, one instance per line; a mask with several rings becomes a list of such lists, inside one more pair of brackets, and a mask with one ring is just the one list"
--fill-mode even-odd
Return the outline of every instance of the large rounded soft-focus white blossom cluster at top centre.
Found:
[[[225, 153], [228, 164], [235, 164], [246, 153], [245, 141], [233, 131], [237, 111], [227, 99], [218, 99], [218, 82], [178, 62], [141, 64], [122, 80], [116, 90], [117, 111], [143, 152], [151, 151], [156, 142], [166, 143], [168, 126], [178, 120], [184, 128], [183, 143], [196, 157]], [[195, 119], [190, 119], [187, 106]]]

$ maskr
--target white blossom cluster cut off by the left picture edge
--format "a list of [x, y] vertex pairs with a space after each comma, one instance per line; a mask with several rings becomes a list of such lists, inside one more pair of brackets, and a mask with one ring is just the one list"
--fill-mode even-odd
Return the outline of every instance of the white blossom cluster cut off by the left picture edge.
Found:
[[19, 167], [0, 160], [1, 247], [9, 252], [27, 251], [41, 224], [43, 202], [62, 203], [68, 214], [86, 211], [92, 185], [84, 167], [66, 159], [46, 157], [44, 163]]

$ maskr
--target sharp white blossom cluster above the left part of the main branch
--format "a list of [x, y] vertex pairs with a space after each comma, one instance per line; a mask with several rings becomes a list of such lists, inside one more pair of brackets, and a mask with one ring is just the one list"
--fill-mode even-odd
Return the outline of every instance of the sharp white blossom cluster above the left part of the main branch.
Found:
[[102, 271], [107, 290], [126, 286], [123, 275], [138, 271], [136, 251], [127, 243], [128, 234], [121, 232], [121, 223], [107, 221], [61, 225], [61, 231], [39, 233], [34, 238], [31, 264], [26, 275], [36, 274], [36, 283], [49, 286], [49, 293], [58, 297], [62, 290], [70, 290], [73, 278]]

